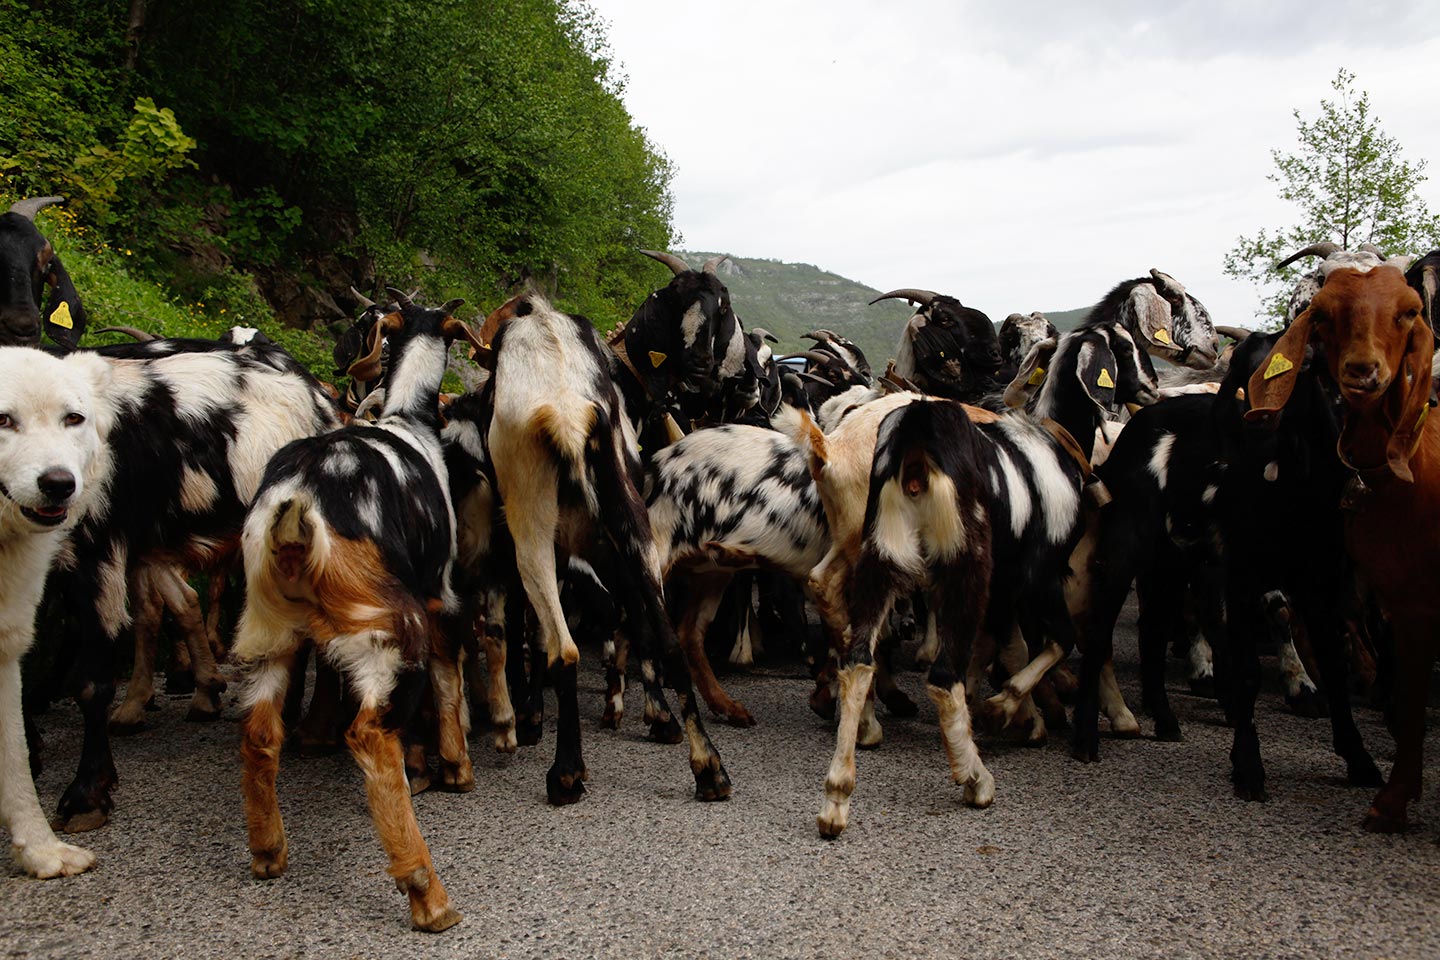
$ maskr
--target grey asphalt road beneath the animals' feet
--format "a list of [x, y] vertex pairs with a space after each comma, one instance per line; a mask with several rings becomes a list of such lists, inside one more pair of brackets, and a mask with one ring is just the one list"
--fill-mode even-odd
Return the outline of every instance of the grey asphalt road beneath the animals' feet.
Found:
[[[1133, 622], [1126, 625], [1133, 630]], [[253, 881], [245, 845], [233, 704], [183, 721], [183, 701], [115, 741], [121, 789], [81, 842], [88, 874], [53, 881], [12, 868], [0, 901], [9, 957], [1437, 957], [1440, 809], [1436, 756], [1407, 835], [1371, 836], [1371, 790], [1349, 787], [1326, 721], [1286, 712], [1272, 684], [1260, 731], [1269, 803], [1236, 800], [1230, 731], [1174, 664], [1185, 743], [1102, 741], [1074, 763], [982, 738], [996, 780], [988, 810], [949, 782], [922, 678], [901, 682], [913, 720], [881, 720], [858, 757], [850, 829], [815, 829], [831, 730], [809, 712], [798, 666], [727, 678], [759, 725], [714, 724], [734, 782], [727, 803], [691, 799], [684, 747], [644, 738], [638, 685], [626, 725], [600, 731], [602, 675], [582, 659], [589, 793], [544, 800], [554, 744], [497, 754], [475, 731], [478, 786], [416, 797], [420, 829], [464, 923], [412, 933], [384, 875], [364, 792], [346, 756], [281, 767], [289, 872]], [[1117, 638], [1138, 708], [1133, 632]], [[1273, 668], [1273, 665], [1272, 665]], [[1382, 770], [1392, 743], [1358, 708]], [[1434, 712], [1431, 728], [1434, 728]], [[42, 720], [52, 806], [73, 771], [72, 705]], [[1149, 734], [1149, 724], [1142, 718]]]

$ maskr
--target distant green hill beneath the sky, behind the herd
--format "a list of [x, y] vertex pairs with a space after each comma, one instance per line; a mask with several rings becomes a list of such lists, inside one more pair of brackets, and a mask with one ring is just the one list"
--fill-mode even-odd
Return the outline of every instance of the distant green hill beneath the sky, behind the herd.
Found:
[[[680, 250], [678, 256], [698, 268], [714, 253]], [[870, 305], [884, 291], [865, 286], [809, 263], [753, 261], [732, 256], [719, 268], [730, 291], [730, 304], [746, 330], [763, 327], [779, 338], [779, 353], [812, 347], [801, 334], [827, 328], [850, 337], [877, 368], [894, 356], [904, 322], [914, 312], [904, 301]], [[1045, 314], [1061, 331], [1074, 328], [1090, 308]], [[1004, 317], [991, 317], [1001, 322]]]

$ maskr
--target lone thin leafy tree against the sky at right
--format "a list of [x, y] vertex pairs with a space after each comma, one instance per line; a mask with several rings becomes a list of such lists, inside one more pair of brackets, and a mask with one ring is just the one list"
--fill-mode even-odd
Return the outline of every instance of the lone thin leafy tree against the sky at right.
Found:
[[1369, 94], [1355, 92], [1355, 75], [1341, 69], [1331, 82], [1335, 99], [1320, 101], [1313, 121], [1295, 111], [1299, 150], [1272, 150], [1280, 199], [1299, 206], [1300, 223], [1243, 236], [1225, 253], [1224, 271], [1263, 291], [1259, 317], [1284, 317], [1286, 299], [1305, 263], [1274, 263], [1310, 243], [1345, 249], [1374, 243], [1385, 253], [1424, 253], [1440, 246], [1440, 217], [1420, 197], [1426, 161], [1401, 158], [1400, 144], [1380, 128]]

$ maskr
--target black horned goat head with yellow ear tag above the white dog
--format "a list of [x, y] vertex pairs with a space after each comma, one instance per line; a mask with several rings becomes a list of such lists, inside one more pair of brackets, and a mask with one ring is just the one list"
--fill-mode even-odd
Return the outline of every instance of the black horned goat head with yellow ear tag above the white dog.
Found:
[[[73, 350], [85, 332], [85, 305], [35, 214], [65, 197], [17, 200], [0, 214], [0, 345], [37, 347], [42, 332]], [[40, 294], [50, 296], [40, 308]]]

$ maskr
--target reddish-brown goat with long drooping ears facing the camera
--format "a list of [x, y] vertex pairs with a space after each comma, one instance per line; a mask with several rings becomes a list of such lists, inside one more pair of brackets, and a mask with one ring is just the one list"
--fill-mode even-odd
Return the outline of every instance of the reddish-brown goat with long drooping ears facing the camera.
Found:
[[1395, 635], [1395, 766], [1365, 816], [1368, 830], [1405, 825], [1420, 796], [1426, 697], [1440, 639], [1440, 419], [1430, 412], [1434, 338], [1401, 272], [1335, 271], [1250, 380], [1248, 419], [1276, 413], [1316, 340], [1348, 412], [1339, 455], [1369, 494], [1345, 521], [1359, 576], [1390, 612]]

